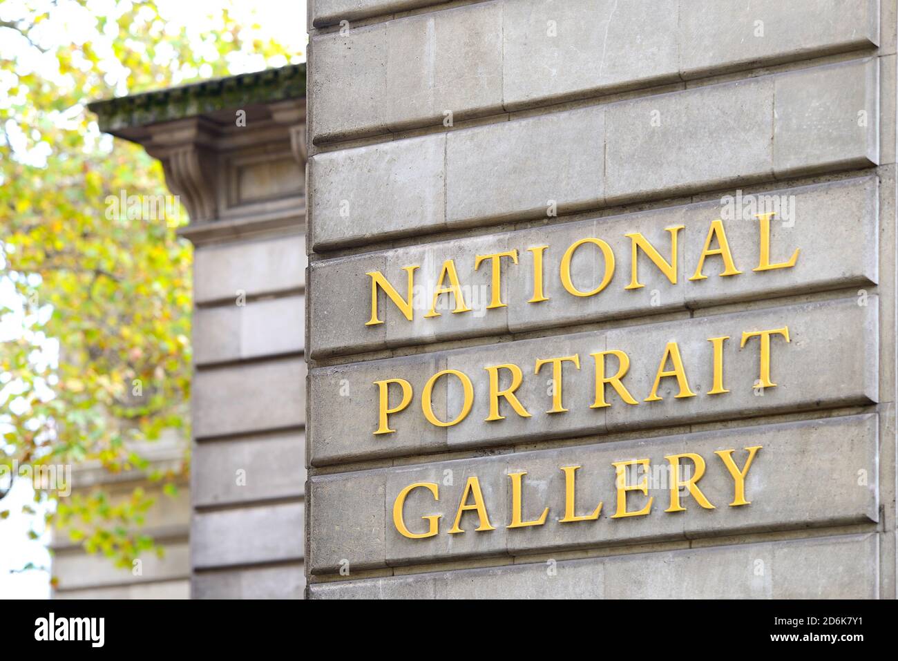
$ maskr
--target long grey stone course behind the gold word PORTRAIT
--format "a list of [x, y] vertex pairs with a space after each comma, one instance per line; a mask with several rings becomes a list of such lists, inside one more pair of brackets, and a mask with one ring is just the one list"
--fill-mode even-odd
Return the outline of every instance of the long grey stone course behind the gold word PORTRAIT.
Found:
[[[840, 323], [832, 323], [833, 319]], [[784, 326], [788, 326], [790, 342], [780, 335], [770, 338], [770, 378], [777, 386], [757, 389], [761, 340], [748, 339], [740, 348], [742, 334]], [[867, 296], [316, 368], [312, 378], [310, 461], [320, 466], [505, 445], [524, 439], [602, 434], [606, 428], [619, 431], [865, 404], [878, 396], [876, 333], [877, 299]], [[729, 339], [723, 343], [723, 384], [729, 392], [708, 394], [713, 387], [709, 338], [725, 336]], [[696, 396], [675, 398], [679, 392], [677, 380], [667, 377], [661, 379], [657, 389], [661, 401], [645, 401], [660, 369], [665, 345], [671, 341], [678, 343], [687, 383]], [[622, 383], [638, 404], [625, 403], [606, 386], [610, 406], [590, 408], [596, 395], [594, 358], [590, 354], [612, 349], [629, 356], [629, 372]], [[546, 366], [533, 375], [535, 359], [574, 354], [579, 356], [580, 368], [571, 363], [562, 366], [561, 397], [568, 412], [550, 413], [552, 369]], [[485, 423], [489, 403], [485, 368], [506, 364], [522, 370], [522, 383], [515, 395], [531, 417], [519, 416], [501, 400], [500, 414], [506, 418]], [[421, 395], [427, 379], [444, 369], [469, 375], [473, 403], [471, 413], [462, 421], [451, 427], [436, 427], [422, 413]], [[668, 358], [665, 370], [671, 369]], [[610, 357], [608, 375], [612, 370], [617, 371], [615, 359]], [[511, 373], [503, 369], [498, 374], [499, 386], [505, 388]], [[407, 408], [389, 417], [394, 433], [374, 435], [379, 392], [374, 382], [387, 378], [408, 380], [413, 398]], [[439, 420], [459, 416], [460, 383], [453, 375], [436, 381], [438, 388], [448, 389], [434, 392]], [[390, 392], [390, 408], [396, 408], [401, 403], [399, 386], [394, 384]]]

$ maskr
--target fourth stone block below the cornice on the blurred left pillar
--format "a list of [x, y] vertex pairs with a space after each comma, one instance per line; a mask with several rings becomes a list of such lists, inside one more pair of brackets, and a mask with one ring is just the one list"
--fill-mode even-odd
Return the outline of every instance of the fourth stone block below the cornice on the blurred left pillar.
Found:
[[203, 441], [193, 450], [193, 503], [197, 506], [298, 498], [305, 489], [301, 432]]

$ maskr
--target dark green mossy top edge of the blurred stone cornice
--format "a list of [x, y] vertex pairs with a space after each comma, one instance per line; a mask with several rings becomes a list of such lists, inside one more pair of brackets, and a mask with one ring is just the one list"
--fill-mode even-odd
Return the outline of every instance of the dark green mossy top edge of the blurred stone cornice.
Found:
[[304, 96], [305, 65], [299, 64], [94, 101], [87, 107], [97, 114], [101, 131], [115, 134], [122, 129], [196, 117], [216, 110]]

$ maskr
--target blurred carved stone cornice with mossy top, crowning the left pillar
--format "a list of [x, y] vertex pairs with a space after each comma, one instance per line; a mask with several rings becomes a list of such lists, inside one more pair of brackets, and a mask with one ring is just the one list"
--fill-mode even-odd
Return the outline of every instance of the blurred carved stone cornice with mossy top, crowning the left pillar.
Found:
[[286, 66], [89, 107], [103, 130], [162, 163], [189, 214], [182, 235], [216, 242], [303, 226], [304, 84], [304, 66]]

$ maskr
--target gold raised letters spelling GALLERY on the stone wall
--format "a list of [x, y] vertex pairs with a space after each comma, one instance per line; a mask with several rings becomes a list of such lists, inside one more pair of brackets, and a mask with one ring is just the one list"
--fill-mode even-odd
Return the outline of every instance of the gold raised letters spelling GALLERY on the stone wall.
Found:
[[[721, 469], [725, 469], [733, 480], [733, 500], [729, 503], [729, 507], [742, 507], [750, 505], [751, 501], [745, 498], [745, 476], [748, 475], [749, 469], [752, 467], [755, 455], [762, 449], [762, 445], [753, 445], [744, 448], [747, 456], [743, 460], [742, 467], [736, 463], [733, 454], [734, 449], [718, 450], [714, 454], [718, 456]], [[709, 499], [705, 496], [699, 487], [699, 481], [705, 474], [707, 463], [705, 458], [696, 453], [668, 454], [665, 460], [669, 464], [670, 474], [673, 476], [668, 489], [667, 507], [665, 513], [685, 512], [686, 507], [683, 505], [682, 498], [688, 493], [703, 509], [716, 509]], [[694, 467], [689, 477], [683, 479], [682, 462], [689, 462]], [[718, 466], [719, 464], [716, 463]], [[610, 519], [622, 519], [632, 516], [647, 516], [652, 511], [655, 501], [654, 496], [649, 496], [648, 474], [651, 470], [649, 459], [633, 459], [625, 462], [612, 462], [614, 469], [614, 485], [615, 485], [615, 507], [614, 513], [607, 516]], [[577, 493], [577, 471], [581, 466], [560, 466], [559, 470], [564, 473], [565, 489], [563, 494], [563, 507], [559, 510], [564, 512], [564, 516], [559, 518], [559, 524], [577, 524], [582, 522], [596, 521], [602, 514], [603, 503], [600, 501], [598, 505], [592, 503], [587, 504], [585, 514], [577, 514], [578, 507], [575, 501]], [[639, 480], [628, 480], [628, 472], [633, 473], [641, 471], [642, 476]], [[546, 523], [546, 519], [550, 513], [550, 507], [542, 510], [541, 516], [535, 519], [524, 520], [524, 476], [526, 471], [508, 473], [506, 477], [511, 480], [511, 510], [510, 521], [506, 528], [526, 528], [533, 526], [541, 526]], [[544, 485], [545, 480], [540, 480]], [[409, 539], [425, 539], [434, 537], [440, 532], [439, 520], [443, 515], [427, 514], [421, 516], [427, 521], [427, 530], [413, 532], [405, 521], [405, 501], [409, 494], [415, 489], [427, 489], [438, 504], [440, 502], [439, 485], [436, 482], [415, 482], [409, 484], [408, 487], [402, 489], [399, 495], [393, 501], [392, 519], [393, 525], [398, 533]], [[541, 493], [543, 489], [532, 488], [531, 492]], [[628, 495], [633, 493], [628, 501]], [[641, 495], [640, 495], [641, 494]], [[560, 496], [560, 494], [559, 494]], [[638, 502], [637, 502], [638, 501]], [[462, 498], [460, 498], [458, 507], [455, 509], [455, 517], [452, 527], [445, 531], [448, 534], [464, 533], [462, 529], [462, 516], [465, 513], [472, 512], [477, 514], [478, 526], [474, 528], [475, 533], [483, 533], [490, 530], [496, 530], [496, 526], [489, 517], [489, 507], [483, 498], [483, 490], [480, 488], [480, 479], [476, 475], [471, 475], [462, 490]]]

